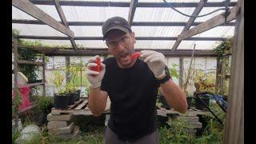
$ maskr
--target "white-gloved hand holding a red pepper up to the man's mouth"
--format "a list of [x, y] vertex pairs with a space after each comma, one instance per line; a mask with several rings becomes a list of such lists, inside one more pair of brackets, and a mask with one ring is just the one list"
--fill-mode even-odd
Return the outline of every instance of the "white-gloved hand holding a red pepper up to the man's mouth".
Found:
[[162, 53], [153, 50], [142, 50], [141, 58], [150, 67], [155, 78], [161, 78], [165, 75], [166, 59]]

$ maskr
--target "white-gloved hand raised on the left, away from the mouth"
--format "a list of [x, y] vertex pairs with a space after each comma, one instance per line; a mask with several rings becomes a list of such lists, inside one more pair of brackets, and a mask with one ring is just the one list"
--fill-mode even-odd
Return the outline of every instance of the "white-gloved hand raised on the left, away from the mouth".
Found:
[[99, 56], [96, 55], [96, 56], [88, 59], [86, 78], [90, 82], [90, 87], [92, 87], [92, 88], [97, 88], [102, 85], [102, 78], [104, 77], [104, 74], [106, 71], [106, 66], [103, 63], [101, 63], [102, 68], [101, 68], [100, 72], [90, 70], [90, 67], [97, 66], [97, 64], [94, 62], [96, 61], [96, 58], [98, 58], [98, 57]]

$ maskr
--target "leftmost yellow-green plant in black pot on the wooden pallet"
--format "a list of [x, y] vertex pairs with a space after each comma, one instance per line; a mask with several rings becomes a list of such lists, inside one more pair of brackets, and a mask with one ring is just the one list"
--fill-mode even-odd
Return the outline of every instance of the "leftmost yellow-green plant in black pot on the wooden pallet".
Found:
[[57, 93], [54, 93], [54, 107], [56, 109], [66, 109], [69, 102], [69, 97], [65, 93], [65, 90], [62, 90], [64, 76], [60, 71], [55, 71], [54, 76], [54, 86], [58, 91]]

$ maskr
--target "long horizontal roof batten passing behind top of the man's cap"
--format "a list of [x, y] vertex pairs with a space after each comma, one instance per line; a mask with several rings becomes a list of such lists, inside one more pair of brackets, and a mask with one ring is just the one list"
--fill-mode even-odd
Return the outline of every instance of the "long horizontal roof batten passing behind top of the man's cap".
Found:
[[[12, 23], [44, 25], [38, 20], [12, 19]], [[68, 26], [102, 26], [104, 22], [67, 22]], [[193, 22], [192, 26], [198, 26], [202, 22]], [[235, 22], [228, 22], [220, 26], [234, 26]], [[186, 22], [132, 22], [131, 26], [186, 26]]]

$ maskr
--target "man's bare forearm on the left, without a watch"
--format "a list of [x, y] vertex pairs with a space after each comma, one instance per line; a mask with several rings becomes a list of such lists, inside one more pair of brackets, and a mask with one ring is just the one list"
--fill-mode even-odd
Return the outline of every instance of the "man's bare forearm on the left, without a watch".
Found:
[[106, 91], [100, 90], [99, 87], [90, 87], [89, 108], [95, 117], [100, 116], [106, 108], [108, 94]]

